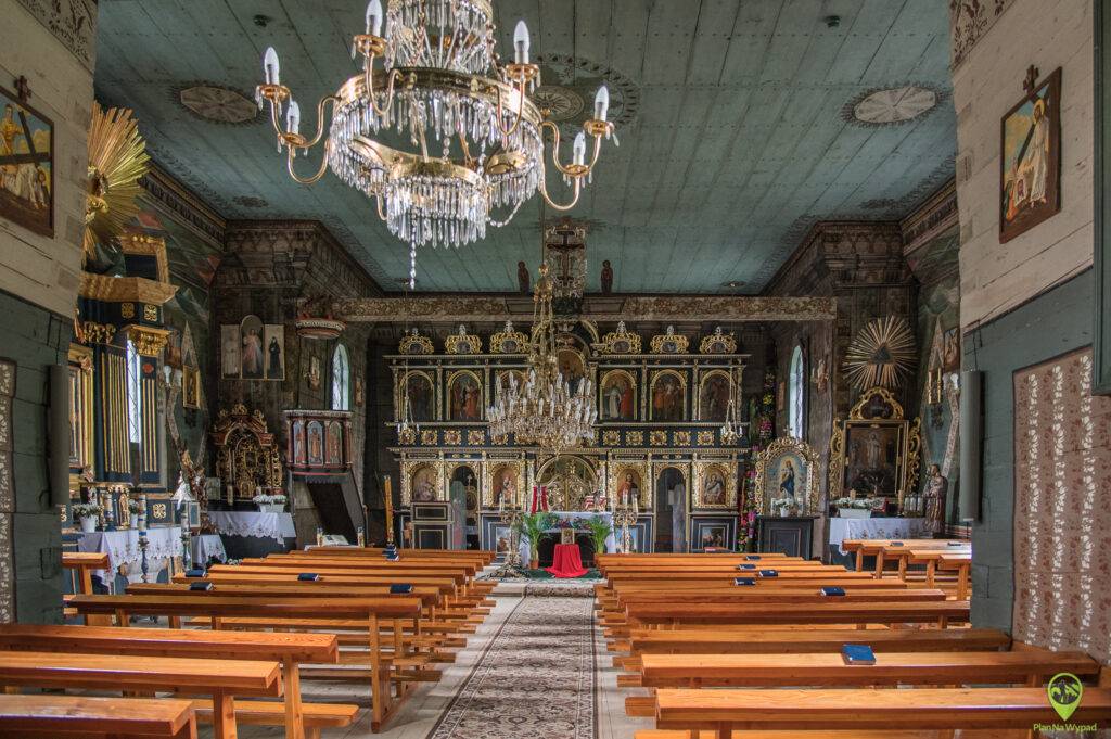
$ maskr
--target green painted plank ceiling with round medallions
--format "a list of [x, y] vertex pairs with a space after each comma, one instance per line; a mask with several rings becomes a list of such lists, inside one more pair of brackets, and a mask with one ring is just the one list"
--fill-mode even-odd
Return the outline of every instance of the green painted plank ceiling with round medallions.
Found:
[[[588, 106], [600, 79], [615, 91], [621, 144], [603, 149], [571, 212], [590, 228], [591, 290], [609, 259], [615, 291], [735, 292], [723, 286], [738, 281], [758, 292], [815, 220], [901, 217], [952, 176], [945, 0], [494, 6], [503, 56], [524, 18], [546, 83]], [[362, 0], [101, 0], [96, 82], [102, 101], [136, 109], [156, 160], [226, 217], [319, 219], [393, 291], [408, 249], [370, 201], [330, 173], [291, 181], [263, 117], [218, 123], [180, 102], [197, 84], [250, 97], [273, 44], [311, 127], [314, 101], [356, 71], [350, 36], [363, 12]], [[907, 84], [934, 91], [938, 106], [895, 124], [852, 118], [870, 92]], [[550, 190], [561, 192], [554, 180]], [[518, 260], [539, 260], [540, 217], [533, 200], [483, 242], [421, 251], [418, 289], [514, 290]]]

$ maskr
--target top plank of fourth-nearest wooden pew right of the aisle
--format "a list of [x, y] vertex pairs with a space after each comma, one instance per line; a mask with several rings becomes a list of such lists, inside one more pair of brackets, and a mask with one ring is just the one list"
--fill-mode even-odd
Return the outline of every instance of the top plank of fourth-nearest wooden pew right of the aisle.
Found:
[[679, 625], [775, 625], [775, 623], [931, 623], [940, 628], [950, 621], [968, 621], [968, 601], [883, 601], [872, 603], [827, 602], [780, 603], [629, 603], [625, 616], [631, 626], [677, 628]]

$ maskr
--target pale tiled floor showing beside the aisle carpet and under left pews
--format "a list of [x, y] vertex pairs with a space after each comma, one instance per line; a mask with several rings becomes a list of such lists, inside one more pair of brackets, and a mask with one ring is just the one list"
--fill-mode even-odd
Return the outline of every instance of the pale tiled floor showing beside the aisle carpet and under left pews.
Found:
[[[510, 590], [507, 588], [507, 590]], [[443, 665], [442, 678], [439, 682], [422, 683], [416, 689], [402, 706], [400, 712], [390, 721], [389, 729], [380, 735], [370, 732], [370, 712], [360, 712], [359, 720], [348, 729], [326, 730], [323, 739], [341, 739], [348, 737], [381, 737], [381, 739], [424, 739], [436, 726], [437, 720], [448, 707], [452, 697], [467, 679], [476, 661], [487, 648], [491, 637], [504, 622], [513, 607], [519, 602], [519, 596], [496, 593], [497, 605], [490, 616], [468, 639], [464, 649], [457, 652], [456, 662]], [[605, 651], [605, 646], [598, 635], [598, 737], [597, 739], [632, 739], [637, 729], [651, 728], [647, 719], [630, 719], [624, 715], [624, 698], [628, 690], [617, 687], [617, 670], [612, 667], [612, 658]], [[329, 700], [336, 702], [356, 702], [369, 705], [366, 690], [360, 690], [351, 683], [324, 683], [307, 681], [302, 685], [306, 700]], [[358, 690], [358, 692], [357, 692]], [[202, 737], [211, 737], [208, 727], [201, 729]], [[239, 731], [242, 739], [280, 739], [284, 737], [282, 728], [242, 727]], [[482, 739], [482, 737], [459, 737], [458, 739]], [[521, 736], [521, 739], [532, 739]], [[540, 739], [539, 737], [537, 739]]]

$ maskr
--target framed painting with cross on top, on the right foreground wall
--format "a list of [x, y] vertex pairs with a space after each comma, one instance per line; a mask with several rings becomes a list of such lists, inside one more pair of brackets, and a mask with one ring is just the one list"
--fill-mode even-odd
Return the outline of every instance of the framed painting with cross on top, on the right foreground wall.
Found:
[[1061, 210], [1061, 68], [1037, 76], [1031, 67], [1027, 94], [1000, 124], [1000, 243]]

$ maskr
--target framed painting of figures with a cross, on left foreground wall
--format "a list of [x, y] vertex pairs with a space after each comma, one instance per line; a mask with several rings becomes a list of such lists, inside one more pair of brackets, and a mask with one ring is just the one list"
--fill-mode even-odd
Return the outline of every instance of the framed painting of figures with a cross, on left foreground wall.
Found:
[[0, 87], [0, 216], [54, 234], [54, 124]]

